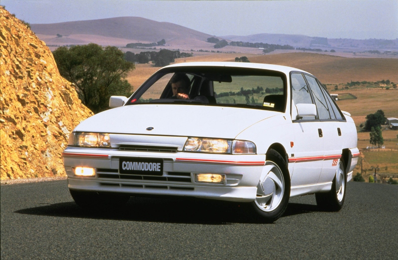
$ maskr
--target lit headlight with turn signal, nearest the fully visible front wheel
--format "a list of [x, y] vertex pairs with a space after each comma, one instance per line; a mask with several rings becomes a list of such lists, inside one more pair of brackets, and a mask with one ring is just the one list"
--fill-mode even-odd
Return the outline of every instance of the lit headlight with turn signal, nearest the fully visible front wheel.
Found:
[[256, 154], [256, 145], [249, 141], [188, 138], [184, 145], [186, 152], [219, 153], [219, 154]]

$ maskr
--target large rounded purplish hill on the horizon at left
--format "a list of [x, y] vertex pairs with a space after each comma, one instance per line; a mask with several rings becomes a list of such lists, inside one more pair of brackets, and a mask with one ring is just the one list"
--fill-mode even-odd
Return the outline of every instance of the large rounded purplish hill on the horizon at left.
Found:
[[[162, 39], [168, 42], [178, 38], [193, 38], [206, 41], [207, 38], [211, 37], [209, 34], [174, 23], [157, 22], [141, 17], [115, 17], [50, 24], [31, 24], [31, 29], [38, 35], [51, 36], [54, 41], [57, 39], [57, 34], [75, 39], [75, 41], [85, 39], [87, 35], [126, 39], [130, 40], [130, 42], [158, 42]], [[80, 35], [80, 37], [74, 35]], [[49, 38], [47, 37], [47, 39]], [[58, 37], [59, 40], [60, 37]], [[45, 41], [49, 44], [48, 40]]]

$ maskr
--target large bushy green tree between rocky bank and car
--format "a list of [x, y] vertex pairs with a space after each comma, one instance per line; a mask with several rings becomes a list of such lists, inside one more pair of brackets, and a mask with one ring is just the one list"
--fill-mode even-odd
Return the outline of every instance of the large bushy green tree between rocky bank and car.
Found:
[[124, 78], [134, 64], [116, 47], [90, 43], [60, 47], [53, 55], [61, 76], [75, 84], [79, 99], [94, 113], [107, 109], [111, 95], [131, 94], [132, 86]]

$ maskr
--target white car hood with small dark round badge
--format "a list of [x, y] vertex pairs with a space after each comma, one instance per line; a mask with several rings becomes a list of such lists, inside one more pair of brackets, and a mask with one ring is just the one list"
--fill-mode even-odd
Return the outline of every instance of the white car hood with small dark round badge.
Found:
[[137, 104], [96, 114], [74, 131], [234, 139], [247, 127], [277, 114], [280, 112], [250, 108]]

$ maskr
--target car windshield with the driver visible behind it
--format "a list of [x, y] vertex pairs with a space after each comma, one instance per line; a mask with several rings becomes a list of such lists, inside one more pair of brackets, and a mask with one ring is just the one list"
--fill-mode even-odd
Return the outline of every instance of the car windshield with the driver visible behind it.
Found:
[[286, 76], [260, 69], [175, 67], [154, 74], [126, 105], [183, 103], [284, 111]]

